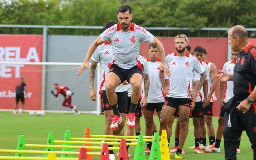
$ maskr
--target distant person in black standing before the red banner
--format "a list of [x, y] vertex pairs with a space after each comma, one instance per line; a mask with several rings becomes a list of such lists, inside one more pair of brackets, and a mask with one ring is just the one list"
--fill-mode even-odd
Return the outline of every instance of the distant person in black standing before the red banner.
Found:
[[14, 110], [13, 110], [13, 115], [16, 116], [16, 109], [17, 109], [17, 106], [18, 106], [18, 103], [19, 101], [21, 101], [21, 107], [20, 107], [20, 110], [18, 112], [18, 114], [20, 116], [22, 116], [22, 109], [24, 108], [25, 106], [25, 98], [24, 98], [24, 91], [26, 93], [26, 98], [27, 97], [27, 88], [26, 88], [26, 84], [25, 84], [25, 78], [24, 77], [20, 77], [20, 83], [16, 84], [16, 103], [14, 105]]

